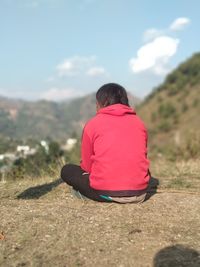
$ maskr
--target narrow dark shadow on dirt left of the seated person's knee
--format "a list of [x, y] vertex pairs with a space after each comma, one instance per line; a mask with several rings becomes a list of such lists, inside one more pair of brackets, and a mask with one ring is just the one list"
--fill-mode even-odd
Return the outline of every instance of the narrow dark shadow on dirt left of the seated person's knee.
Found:
[[18, 199], [37, 199], [40, 198], [41, 196], [49, 193], [52, 191], [55, 187], [57, 187], [59, 184], [61, 184], [63, 181], [61, 179], [57, 179], [51, 183], [48, 184], [43, 184], [43, 185], [38, 185], [38, 186], [33, 186], [22, 193], [20, 193], [17, 198]]

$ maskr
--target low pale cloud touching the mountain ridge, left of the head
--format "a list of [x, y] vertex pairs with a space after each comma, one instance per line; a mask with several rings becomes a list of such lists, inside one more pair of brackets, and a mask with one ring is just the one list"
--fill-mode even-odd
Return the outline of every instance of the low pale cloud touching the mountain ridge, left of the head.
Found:
[[51, 88], [40, 95], [41, 99], [50, 101], [61, 101], [81, 96], [82, 93], [73, 88]]

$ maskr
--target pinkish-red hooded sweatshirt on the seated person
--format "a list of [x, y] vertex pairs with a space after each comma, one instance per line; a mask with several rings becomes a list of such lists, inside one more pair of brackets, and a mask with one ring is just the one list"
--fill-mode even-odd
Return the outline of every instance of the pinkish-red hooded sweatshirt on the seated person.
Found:
[[122, 104], [101, 108], [83, 130], [81, 168], [100, 194], [146, 192], [149, 176], [147, 130], [135, 111]]

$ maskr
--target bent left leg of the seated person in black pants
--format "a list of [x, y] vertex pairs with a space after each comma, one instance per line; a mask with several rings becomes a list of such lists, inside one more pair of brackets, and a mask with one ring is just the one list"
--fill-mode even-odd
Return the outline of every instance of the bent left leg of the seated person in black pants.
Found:
[[61, 178], [68, 185], [72, 186], [74, 190], [79, 191], [82, 195], [100, 202], [111, 202], [103, 199], [98, 193], [90, 187], [89, 174], [80, 166], [74, 164], [67, 164], [61, 170]]

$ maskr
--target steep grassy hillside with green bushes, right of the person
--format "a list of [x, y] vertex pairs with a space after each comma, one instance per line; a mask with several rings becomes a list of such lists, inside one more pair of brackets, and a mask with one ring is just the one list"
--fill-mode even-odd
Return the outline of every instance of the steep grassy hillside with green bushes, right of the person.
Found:
[[152, 148], [181, 153], [187, 147], [195, 156], [200, 143], [200, 53], [170, 73], [137, 111], [149, 129]]

